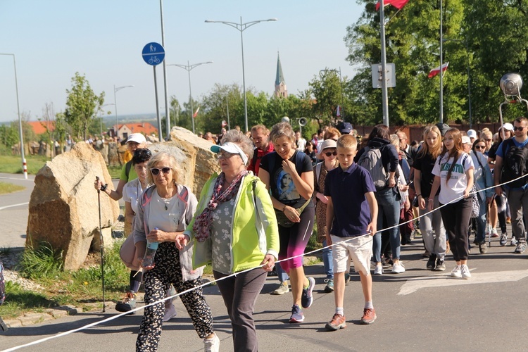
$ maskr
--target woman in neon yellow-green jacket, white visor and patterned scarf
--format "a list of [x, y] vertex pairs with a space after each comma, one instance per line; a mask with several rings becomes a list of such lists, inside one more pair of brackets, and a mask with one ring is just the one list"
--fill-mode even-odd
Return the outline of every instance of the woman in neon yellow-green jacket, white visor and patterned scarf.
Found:
[[246, 171], [253, 156], [250, 139], [230, 130], [221, 142], [210, 149], [222, 172], [206, 182], [196, 216], [177, 246], [194, 240], [194, 268], [212, 264], [231, 320], [234, 351], [258, 351], [253, 307], [278, 256], [277, 220], [265, 185]]

